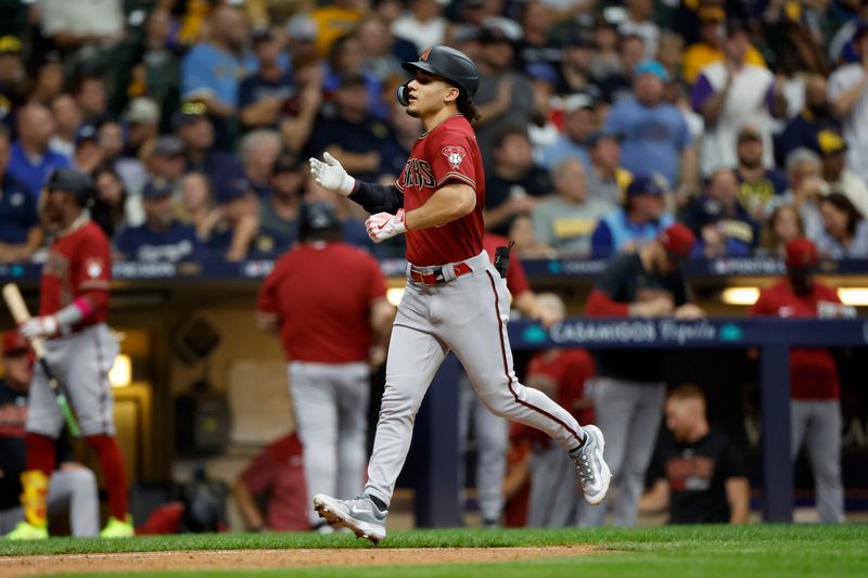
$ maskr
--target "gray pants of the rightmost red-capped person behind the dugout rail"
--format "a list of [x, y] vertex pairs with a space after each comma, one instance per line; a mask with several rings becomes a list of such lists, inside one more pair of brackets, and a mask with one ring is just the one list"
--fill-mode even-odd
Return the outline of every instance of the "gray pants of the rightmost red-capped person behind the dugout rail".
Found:
[[844, 487], [841, 484], [841, 404], [837, 399], [790, 402], [792, 457], [802, 441], [814, 470], [820, 522], [844, 522]]

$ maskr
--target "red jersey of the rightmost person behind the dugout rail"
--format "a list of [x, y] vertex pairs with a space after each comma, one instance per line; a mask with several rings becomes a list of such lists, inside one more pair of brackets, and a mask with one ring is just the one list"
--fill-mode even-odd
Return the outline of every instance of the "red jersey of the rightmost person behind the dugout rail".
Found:
[[[820, 301], [840, 304], [834, 288], [814, 282], [810, 295], [800, 297], [787, 280], [760, 292], [751, 306], [753, 316], [817, 317]], [[781, 327], [786, 331], [786, 327]], [[840, 385], [834, 358], [825, 348], [793, 347], [790, 351], [790, 395], [793, 399], [838, 399]]]

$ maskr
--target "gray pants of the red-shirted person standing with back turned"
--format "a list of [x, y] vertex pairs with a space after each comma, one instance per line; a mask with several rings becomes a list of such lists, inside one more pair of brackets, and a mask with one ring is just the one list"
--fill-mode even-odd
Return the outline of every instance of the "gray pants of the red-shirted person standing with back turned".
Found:
[[352, 496], [365, 483], [368, 457], [370, 369], [355, 363], [289, 364], [290, 398], [304, 447], [308, 519], [316, 524], [314, 496]]

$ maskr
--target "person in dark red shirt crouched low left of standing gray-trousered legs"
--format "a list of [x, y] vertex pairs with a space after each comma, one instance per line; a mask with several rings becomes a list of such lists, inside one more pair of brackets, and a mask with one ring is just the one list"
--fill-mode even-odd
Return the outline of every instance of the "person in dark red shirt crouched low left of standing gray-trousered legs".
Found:
[[[232, 496], [248, 530], [310, 529], [302, 441], [293, 432], [266, 446], [235, 478]], [[268, 492], [266, 513], [256, 497]]]

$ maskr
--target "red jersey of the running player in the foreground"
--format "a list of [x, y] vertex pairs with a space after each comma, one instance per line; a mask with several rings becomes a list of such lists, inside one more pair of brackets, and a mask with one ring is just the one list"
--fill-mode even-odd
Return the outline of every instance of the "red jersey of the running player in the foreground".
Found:
[[460, 114], [419, 137], [396, 184], [409, 213], [450, 182], [472, 187], [476, 206], [470, 215], [444, 226], [407, 231], [407, 260], [413, 265], [463, 261], [482, 252], [485, 174], [476, 136]]

